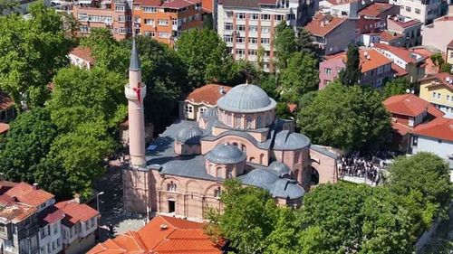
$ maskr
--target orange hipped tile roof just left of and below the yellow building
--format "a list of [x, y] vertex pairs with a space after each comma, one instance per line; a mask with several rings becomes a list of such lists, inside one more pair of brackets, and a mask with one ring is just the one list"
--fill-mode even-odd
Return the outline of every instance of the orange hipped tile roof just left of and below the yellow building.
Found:
[[[391, 114], [399, 114], [415, 118], [423, 111], [428, 110], [431, 104], [411, 93], [394, 95], [383, 101], [384, 107]], [[432, 107], [432, 106], [431, 106]]]

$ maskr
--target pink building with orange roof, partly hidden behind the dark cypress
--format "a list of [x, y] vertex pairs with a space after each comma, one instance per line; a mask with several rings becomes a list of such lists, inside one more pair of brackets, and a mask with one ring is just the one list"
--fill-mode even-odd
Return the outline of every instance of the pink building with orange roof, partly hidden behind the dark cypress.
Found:
[[[361, 85], [380, 88], [391, 79], [391, 61], [373, 49], [360, 49]], [[336, 54], [319, 64], [319, 89], [336, 79], [346, 66], [346, 52]]]

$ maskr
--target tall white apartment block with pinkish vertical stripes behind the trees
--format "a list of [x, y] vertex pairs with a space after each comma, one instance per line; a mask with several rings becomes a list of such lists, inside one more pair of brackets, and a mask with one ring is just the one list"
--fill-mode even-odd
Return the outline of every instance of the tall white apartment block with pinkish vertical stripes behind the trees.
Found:
[[272, 71], [275, 26], [303, 24], [313, 6], [313, 2], [299, 0], [222, 0], [217, 5], [217, 33], [236, 60], [257, 63], [262, 48], [264, 71]]

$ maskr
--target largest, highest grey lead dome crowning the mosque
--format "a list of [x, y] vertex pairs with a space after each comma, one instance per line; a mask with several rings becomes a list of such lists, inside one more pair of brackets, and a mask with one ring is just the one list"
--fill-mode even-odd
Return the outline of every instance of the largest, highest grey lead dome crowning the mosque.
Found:
[[242, 84], [230, 89], [217, 100], [217, 107], [229, 112], [255, 113], [275, 108], [276, 102], [265, 91], [252, 84]]

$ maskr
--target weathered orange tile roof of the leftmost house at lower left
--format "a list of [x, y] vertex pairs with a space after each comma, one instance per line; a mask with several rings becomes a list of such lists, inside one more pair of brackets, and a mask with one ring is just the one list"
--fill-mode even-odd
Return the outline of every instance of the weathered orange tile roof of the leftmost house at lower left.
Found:
[[33, 207], [38, 207], [54, 197], [52, 193], [47, 193], [42, 189], [35, 189], [34, 186], [28, 183], [18, 183], [5, 194]]

